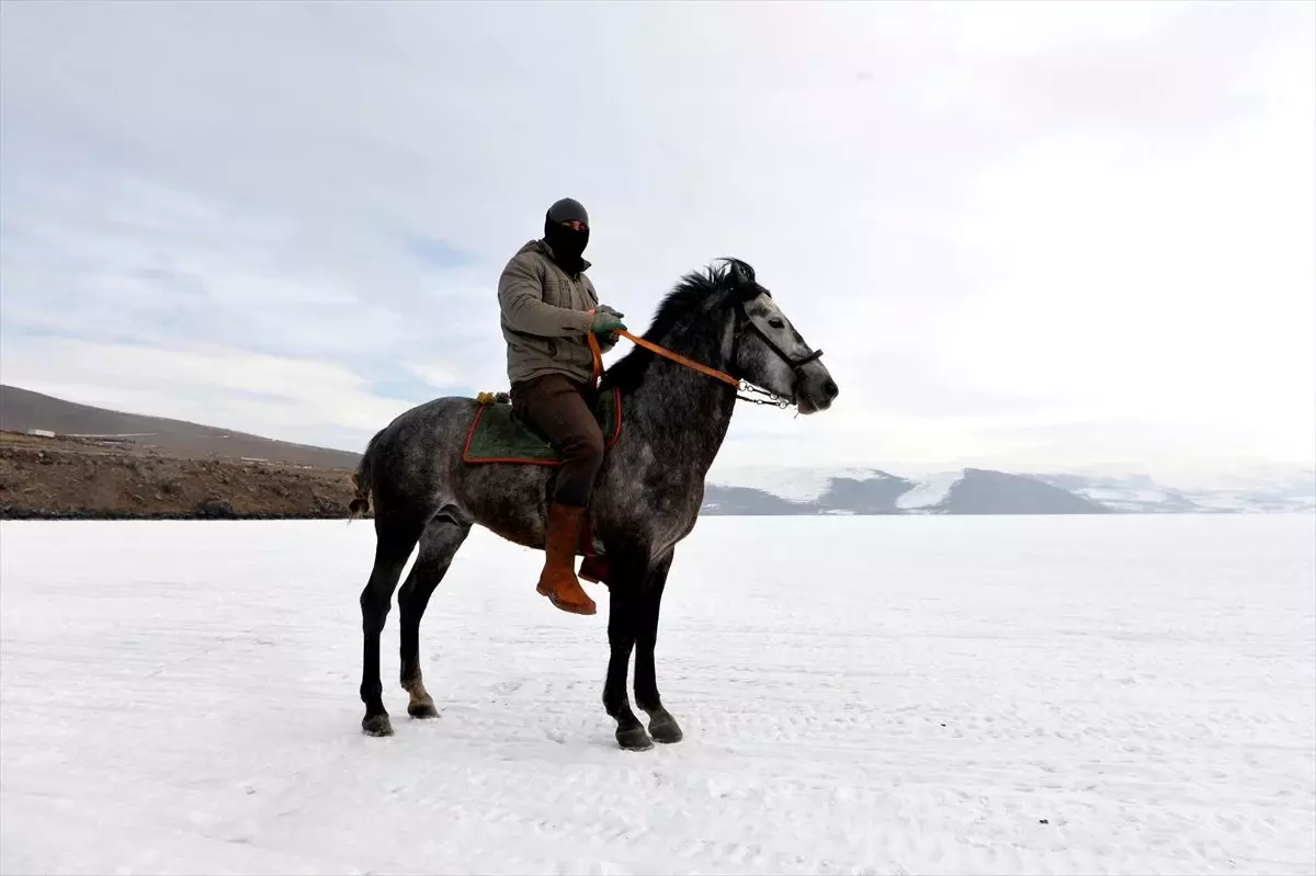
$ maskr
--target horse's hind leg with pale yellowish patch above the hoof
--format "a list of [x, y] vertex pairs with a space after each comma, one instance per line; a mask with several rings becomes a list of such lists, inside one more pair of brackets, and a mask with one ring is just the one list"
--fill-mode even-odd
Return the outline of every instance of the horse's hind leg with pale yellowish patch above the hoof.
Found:
[[401, 626], [401, 685], [411, 700], [407, 714], [413, 718], [437, 718], [434, 700], [425, 691], [420, 671], [420, 620], [425, 616], [429, 597], [440, 585], [453, 556], [471, 533], [470, 522], [446, 512], [429, 522], [420, 537], [416, 564], [397, 592], [397, 616]]

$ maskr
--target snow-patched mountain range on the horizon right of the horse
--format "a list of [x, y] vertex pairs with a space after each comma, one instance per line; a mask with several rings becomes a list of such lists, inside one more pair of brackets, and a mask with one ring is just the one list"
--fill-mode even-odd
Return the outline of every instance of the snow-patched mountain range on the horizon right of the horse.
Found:
[[1146, 475], [1009, 474], [963, 468], [917, 476], [882, 468], [753, 467], [708, 477], [705, 514], [1108, 514], [1316, 512], [1316, 472], [1190, 480]]

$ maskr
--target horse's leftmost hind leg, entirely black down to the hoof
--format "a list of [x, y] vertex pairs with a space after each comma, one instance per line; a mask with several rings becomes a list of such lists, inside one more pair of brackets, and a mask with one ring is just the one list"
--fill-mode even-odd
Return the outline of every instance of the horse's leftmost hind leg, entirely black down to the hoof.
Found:
[[361, 701], [366, 704], [366, 717], [361, 729], [372, 737], [392, 735], [393, 727], [384, 709], [384, 685], [379, 681], [379, 634], [388, 620], [388, 606], [397, 588], [407, 558], [424, 529], [424, 518], [399, 514], [375, 517], [375, 566], [370, 580], [361, 592]]

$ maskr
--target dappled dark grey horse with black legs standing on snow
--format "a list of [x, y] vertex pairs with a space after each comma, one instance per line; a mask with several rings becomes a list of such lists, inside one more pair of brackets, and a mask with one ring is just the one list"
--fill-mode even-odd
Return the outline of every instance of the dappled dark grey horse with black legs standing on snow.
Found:
[[[683, 738], [654, 675], [658, 610], [736, 402], [794, 405], [799, 414], [813, 414], [830, 408], [840, 389], [820, 362], [822, 351], [805, 343], [741, 259], [717, 259], [686, 274], [644, 337], [624, 334], [636, 347], [605, 371], [595, 351], [596, 388], [615, 393], [625, 425], [605, 452], [586, 512], [586, 541], [607, 568], [600, 577], [608, 588], [611, 656], [603, 706], [617, 723], [617, 744], [646, 750], [654, 741]], [[471, 526], [544, 547], [554, 470], [465, 462], [480, 404], [449, 396], [399, 414], [367, 442], [353, 477], [351, 513], [363, 516], [372, 501], [375, 522], [374, 566], [361, 592], [361, 726], [367, 735], [393, 731], [382, 698], [379, 635], [417, 543], [416, 563], [397, 593], [400, 683], [413, 718], [438, 716], [420, 668], [420, 622]], [[636, 705], [649, 716], [647, 733], [626, 696], [633, 650]]]

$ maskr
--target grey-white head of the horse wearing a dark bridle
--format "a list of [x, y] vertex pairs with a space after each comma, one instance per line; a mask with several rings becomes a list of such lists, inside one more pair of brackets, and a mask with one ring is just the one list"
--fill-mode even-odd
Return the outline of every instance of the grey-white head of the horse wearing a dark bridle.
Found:
[[736, 309], [726, 360], [730, 374], [794, 401], [801, 414], [830, 408], [841, 391], [820, 360], [822, 351], [809, 347], [795, 330], [771, 292], [755, 279], [754, 268], [726, 259], [722, 278], [726, 301]]

